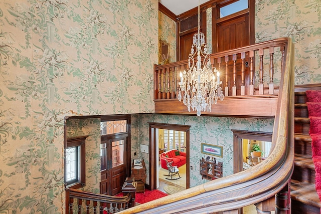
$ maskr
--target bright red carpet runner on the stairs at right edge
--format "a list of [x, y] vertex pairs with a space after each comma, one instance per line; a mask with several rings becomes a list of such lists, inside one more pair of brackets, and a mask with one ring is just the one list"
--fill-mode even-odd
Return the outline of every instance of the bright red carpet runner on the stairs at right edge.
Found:
[[321, 91], [306, 91], [310, 118], [312, 160], [315, 167], [315, 189], [321, 199]]

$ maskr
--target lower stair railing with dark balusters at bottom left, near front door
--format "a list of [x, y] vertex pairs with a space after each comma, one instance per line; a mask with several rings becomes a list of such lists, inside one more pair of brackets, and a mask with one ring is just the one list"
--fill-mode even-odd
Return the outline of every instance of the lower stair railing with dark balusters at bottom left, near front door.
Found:
[[[132, 201], [131, 195], [128, 193], [125, 196], [111, 196], [66, 188], [66, 214], [73, 213], [74, 200], [77, 201], [76, 213], [84, 213], [86, 211], [86, 213], [103, 214], [104, 208], [106, 213], [115, 213], [134, 205], [130, 203]], [[85, 200], [84, 205], [82, 205], [83, 200]]]

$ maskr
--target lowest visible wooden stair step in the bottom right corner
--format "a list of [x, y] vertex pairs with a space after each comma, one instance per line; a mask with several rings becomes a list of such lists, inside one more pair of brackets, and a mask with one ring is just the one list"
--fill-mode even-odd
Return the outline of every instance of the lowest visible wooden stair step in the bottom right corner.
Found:
[[[296, 205], [296, 201], [299, 201], [303, 205]], [[314, 184], [292, 179], [291, 203], [292, 213], [320, 213], [321, 203], [316, 193]]]

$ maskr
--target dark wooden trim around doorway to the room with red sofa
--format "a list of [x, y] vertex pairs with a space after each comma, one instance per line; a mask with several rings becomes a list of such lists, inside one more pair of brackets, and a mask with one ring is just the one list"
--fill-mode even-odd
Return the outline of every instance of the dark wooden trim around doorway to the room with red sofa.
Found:
[[186, 188], [190, 188], [190, 127], [188, 125], [177, 125], [168, 123], [154, 123], [149, 124], [149, 187], [150, 190], [156, 189], [156, 130], [168, 129], [175, 131], [186, 132]]

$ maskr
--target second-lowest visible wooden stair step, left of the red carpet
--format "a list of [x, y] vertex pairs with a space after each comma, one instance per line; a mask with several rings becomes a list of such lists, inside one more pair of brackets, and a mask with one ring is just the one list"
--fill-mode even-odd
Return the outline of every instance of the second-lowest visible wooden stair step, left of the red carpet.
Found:
[[315, 169], [311, 157], [294, 155], [294, 170], [291, 179], [315, 183]]

